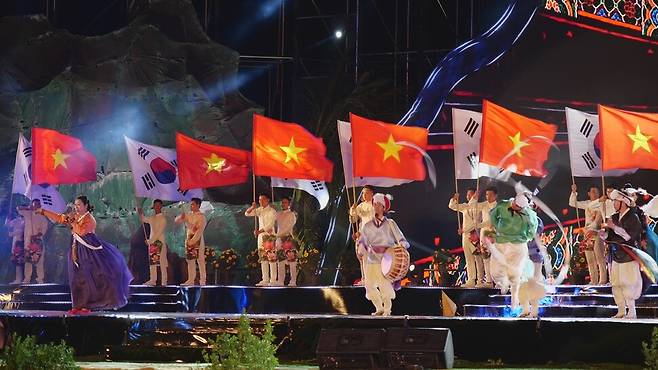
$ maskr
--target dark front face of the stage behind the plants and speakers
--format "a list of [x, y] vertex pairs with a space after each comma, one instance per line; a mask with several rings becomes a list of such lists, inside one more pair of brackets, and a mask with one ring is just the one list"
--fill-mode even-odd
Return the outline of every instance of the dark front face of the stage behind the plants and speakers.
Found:
[[[36, 316], [36, 315], [35, 315]], [[0, 315], [1, 317], [1, 315]], [[262, 327], [265, 317], [252, 318]], [[625, 320], [551, 321], [371, 317], [272, 317], [278, 356], [284, 361], [312, 360], [322, 328], [449, 328], [455, 355], [468, 361], [501, 359], [515, 363], [613, 362], [639, 365], [641, 342], [654, 325]], [[207, 319], [127, 317], [6, 317], [9, 330], [40, 340], [66, 340], [78, 356], [113, 361], [201, 361], [201, 348], [217, 333], [235, 332], [237, 317]], [[610, 340], [614, 335], [615, 340]], [[285, 338], [285, 340], [284, 340]], [[486, 345], [478, 343], [486, 342]]]

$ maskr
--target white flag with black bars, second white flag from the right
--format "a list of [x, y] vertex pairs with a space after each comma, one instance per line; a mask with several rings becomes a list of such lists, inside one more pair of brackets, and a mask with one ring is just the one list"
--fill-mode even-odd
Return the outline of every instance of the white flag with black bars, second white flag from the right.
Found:
[[455, 178], [496, 177], [500, 169], [480, 163], [482, 113], [452, 108], [452, 140], [455, 145]]

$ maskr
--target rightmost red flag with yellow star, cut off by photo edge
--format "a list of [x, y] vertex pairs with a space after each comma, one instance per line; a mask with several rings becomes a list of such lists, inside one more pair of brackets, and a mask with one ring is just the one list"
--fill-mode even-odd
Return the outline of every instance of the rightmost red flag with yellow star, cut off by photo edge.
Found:
[[640, 113], [599, 105], [603, 170], [658, 170], [658, 113]]

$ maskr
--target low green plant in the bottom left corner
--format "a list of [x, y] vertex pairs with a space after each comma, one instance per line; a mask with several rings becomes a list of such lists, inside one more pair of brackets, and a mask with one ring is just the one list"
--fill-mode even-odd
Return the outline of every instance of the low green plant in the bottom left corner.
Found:
[[0, 369], [55, 370], [79, 369], [73, 358], [73, 348], [61, 341], [59, 344], [37, 344], [33, 336], [16, 336], [0, 356]]

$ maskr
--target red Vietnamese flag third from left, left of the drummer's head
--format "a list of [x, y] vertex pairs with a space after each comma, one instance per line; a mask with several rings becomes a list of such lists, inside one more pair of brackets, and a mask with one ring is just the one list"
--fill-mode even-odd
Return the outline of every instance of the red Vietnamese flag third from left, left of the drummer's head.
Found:
[[322, 139], [304, 127], [254, 114], [254, 174], [331, 181], [334, 165]]

